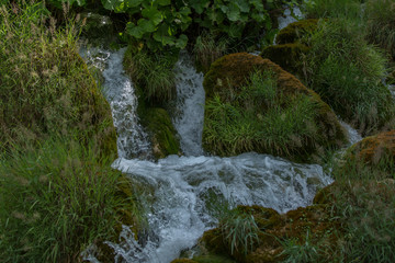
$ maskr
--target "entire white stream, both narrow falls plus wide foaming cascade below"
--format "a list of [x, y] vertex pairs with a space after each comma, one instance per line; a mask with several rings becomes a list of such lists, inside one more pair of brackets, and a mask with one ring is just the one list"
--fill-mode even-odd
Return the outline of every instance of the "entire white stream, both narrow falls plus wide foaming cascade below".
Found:
[[[101, 53], [104, 56], [99, 54], [95, 59], [106, 65], [105, 94], [120, 136], [121, 155], [113, 168], [144, 183], [155, 201], [144, 204], [149, 225], [144, 242], [136, 241], [127, 226], [117, 243], [108, 242], [115, 251], [115, 262], [168, 263], [215, 227], [218, 209], [260, 205], [285, 213], [311, 204], [317, 187], [331, 182], [319, 165], [292, 163], [268, 155], [202, 156], [203, 76], [185, 53], [174, 68], [178, 111], [173, 123], [187, 156], [169, 156], [157, 163], [132, 159], [147, 152], [148, 144], [135, 115], [133, 84], [122, 73], [124, 50]], [[92, 56], [90, 59], [95, 60]], [[97, 262], [91, 254], [87, 259]]]

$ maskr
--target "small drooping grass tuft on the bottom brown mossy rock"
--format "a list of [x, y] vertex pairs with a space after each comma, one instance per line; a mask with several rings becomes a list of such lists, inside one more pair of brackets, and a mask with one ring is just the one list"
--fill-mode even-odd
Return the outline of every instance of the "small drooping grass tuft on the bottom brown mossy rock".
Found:
[[247, 254], [259, 244], [258, 235], [261, 232], [253, 216], [242, 214], [236, 209], [228, 210], [222, 215], [218, 229], [223, 240], [228, 244], [230, 254]]

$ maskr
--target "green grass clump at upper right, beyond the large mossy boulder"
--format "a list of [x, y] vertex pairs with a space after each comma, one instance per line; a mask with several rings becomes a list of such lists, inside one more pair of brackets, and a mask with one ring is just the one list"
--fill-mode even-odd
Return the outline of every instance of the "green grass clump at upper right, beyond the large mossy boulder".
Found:
[[[385, 58], [369, 45], [359, 25], [346, 20], [320, 23], [308, 38], [308, 87], [363, 134], [382, 128], [394, 116], [386, 87]], [[306, 39], [305, 38], [305, 39]]]

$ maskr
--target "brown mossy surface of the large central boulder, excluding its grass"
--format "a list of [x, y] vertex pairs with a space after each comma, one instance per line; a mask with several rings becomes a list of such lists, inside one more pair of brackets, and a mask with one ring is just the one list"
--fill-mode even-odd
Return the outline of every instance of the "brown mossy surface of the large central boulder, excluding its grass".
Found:
[[[235, 107], [232, 98], [238, 98], [241, 90], [248, 82], [251, 73], [266, 71], [270, 71], [275, 76], [274, 79], [278, 87], [276, 89], [279, 90], [281, 98], [284, 98], [284, 102], [276, 106], [286, 106], [286, 100], [292, 101], [297, 96], [301, 96], [304, 100], [307, 100], [308, 103], [314, 104], [315, 116], [314, 119], [312, 119], [312, 123], [308, 125], [312, 125], [312, 129], [317, 132], [317, 136], [313, 140], [302, 137], [295, 138], [297, 144], [290, 142], [286, 145], [287, 149], [293, 149], [292, 152], [278, 150], [275, 145], [276, 141], [274, 141], [271, 147], [261, 147], [259, 141], [263, 140], [264, 138], [259, 137], [256, 140], [252, 139], [250, 141], [246, 141], [248, 147], [237, 147], [234, 142], [224, 142], [224, 136], [216, 134], [216, 129], [213, 128], [217, 127], [215, 125], [218, 124], [215, 123], [217, 122], [217, 116], [213, 113], [210, 103], [213, 101], [219, 101], [219, 103], [224, 103], [224, 105], [229, 108]], [[320, 155], [325, 151], [326, 148], [337, 148], [346, 142], [346, 132], [339, 124], [336, 115], [328, 106], [328, 104], [323, 102], [317, 93], [303, 85], [302, 82], [293, 75], [284, 71], [281, 67], [270, 61], [269, 59], [263, 59], [259, 56], [253, 56], [246, 53], [224, 56], [212, 65], [211, 70], [204, 78], [203, 85], [206, 92], [203, 147], [211, 153], [218, 156], [232, 156], [246, 151], [256, 151], [259, 153], [270, 153], [285, 157], [294, 161], [308, 161], [311, 157]], [[237, 103], [245, 104], [246, 102], [237, 101]], [[248, 106], [249, 105], [246, 105], [246, 107]], [[264, 114], [268, 112], [268, 108], [264, 108], [263, 104], [257, 104], [255, 106], [258, 107], [258, 110], [255, 113], [255, 121], [252, 121], [250, 124], [247, 124], [247, 126], [250, 125], [250, 127], [253, 127], [253, 125], [257, 125], [257, 123], [261, 122], [262, 117], [264, 117]], [[233, 125], [237, 126], [238, 124]], [[229, 129], [235, 128], [234, 126], [230, 126]], [[259, 134], [259, 132], [257, 134]]]

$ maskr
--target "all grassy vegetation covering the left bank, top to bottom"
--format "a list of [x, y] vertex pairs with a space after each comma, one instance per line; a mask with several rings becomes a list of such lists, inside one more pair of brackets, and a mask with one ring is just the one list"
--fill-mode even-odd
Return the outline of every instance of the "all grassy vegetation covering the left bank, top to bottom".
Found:
[[142, 218], [110, 167], [110, 105], [78, 55], [78, 21], [58, 27], [42, 2], [0, 13], [0, 259], [78, 262]]

